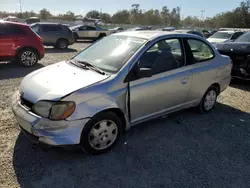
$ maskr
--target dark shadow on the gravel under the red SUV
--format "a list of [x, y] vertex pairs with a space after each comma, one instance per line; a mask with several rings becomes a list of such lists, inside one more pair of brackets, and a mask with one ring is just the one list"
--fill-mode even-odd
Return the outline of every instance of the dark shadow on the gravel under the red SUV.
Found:
[[39, 63], [32, 67], [23, 67], [15, 62], [0, 63], [0, 80], [21, 78], [42, 67], [44, 65]]

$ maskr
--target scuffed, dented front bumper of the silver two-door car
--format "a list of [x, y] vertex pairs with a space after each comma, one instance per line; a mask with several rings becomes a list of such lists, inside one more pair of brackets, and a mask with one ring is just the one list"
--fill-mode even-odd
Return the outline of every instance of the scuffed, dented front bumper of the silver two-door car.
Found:
[[[44, 143], [51, 146], [79, 144], [81, 132], [89, 121], [89, 118], [71, 121], [51, 121], [39, 117], [21, 105], [18, 92], [12, 98], [12, 111], [20, 127], [26, 133], [33, 135], [33, 140], [35, 141], [33, 143]], [[52, 129], [52, 127], [54, 128]], [[25, 135], [27, 136], [27, 134]]]

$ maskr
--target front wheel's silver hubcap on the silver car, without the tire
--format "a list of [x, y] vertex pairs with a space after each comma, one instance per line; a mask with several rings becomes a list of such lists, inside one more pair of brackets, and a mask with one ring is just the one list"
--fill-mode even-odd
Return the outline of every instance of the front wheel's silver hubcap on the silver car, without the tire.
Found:
[[118, 128], [111, 120], [102, 120], [96, 123], [89, 134], [89, 143], [96, 150], [103, 150], [111, 146], [118, 135]]

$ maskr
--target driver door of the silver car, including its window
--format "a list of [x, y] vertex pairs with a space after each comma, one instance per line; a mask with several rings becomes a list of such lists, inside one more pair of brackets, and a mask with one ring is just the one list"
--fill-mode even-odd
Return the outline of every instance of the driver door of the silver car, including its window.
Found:
[[[171, 45], [173, 46], [171, 48]], [[140, 69], [152, 70], [151, 77], [140, 77]], [[166, 39], [155, 43], [131, 70], [131, 123], [175, 111], [187, 101], [192, 72], [185, 67], [183, 44], [180, 39]]]

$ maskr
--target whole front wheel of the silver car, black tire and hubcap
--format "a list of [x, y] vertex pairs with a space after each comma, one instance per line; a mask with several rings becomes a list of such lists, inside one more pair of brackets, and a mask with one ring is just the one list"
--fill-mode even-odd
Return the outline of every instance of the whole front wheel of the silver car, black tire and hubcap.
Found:
[[122, 123], [116, 114], [101, 112], [85, 125], [80, 146], [83, 151], [90, 154], [105, 153], [118, 142], [121, 131]]

